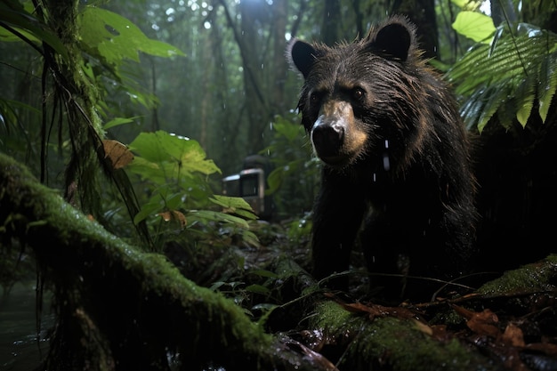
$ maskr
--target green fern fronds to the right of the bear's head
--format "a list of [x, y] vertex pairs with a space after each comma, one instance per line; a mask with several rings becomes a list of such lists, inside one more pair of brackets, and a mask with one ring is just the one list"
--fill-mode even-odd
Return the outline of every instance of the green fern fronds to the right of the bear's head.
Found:
[[[497, 28], [491, 44], [477, 44], [448, 71], [463, 100], [467, 128], [480, 133], [496, 115], [505, 128], [525, 126], [537, 107], [545, 122], [557, 89], [557, 35], [526, 23]], [[537, 101], [537, 105], [535, 102]]]

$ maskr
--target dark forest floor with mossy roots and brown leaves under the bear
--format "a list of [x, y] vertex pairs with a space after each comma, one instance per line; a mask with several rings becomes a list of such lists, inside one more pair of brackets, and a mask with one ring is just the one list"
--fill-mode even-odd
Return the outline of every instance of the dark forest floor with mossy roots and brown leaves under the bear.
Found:
[[[241, 284], [222, 284], [222, 292], [254, 318], [264, 318], [270, 333], [287, 334], [338, 369], [557, 370], [557, 256], [478, 275], [478, 286], [445, 289], [424, 302], [385, 305], [370, 294], [358, 251], [348, 273], [350, 291], [328, 291], [307, 274], [307, 241], [292, 244], [287, 232], [270, 228], [273, 238], [262, 246], [238, 248], [242, 272], [226, 279]], [[225, 262], [230, 268], [230, 256]], [[401, 329], [400, 322], [411, 330]], [[393, 336], [406, 348], [401, 354]], [[460, 351], [451, 348], [455, 343]], [[355, 361], [355, 350], [367, 355]]]

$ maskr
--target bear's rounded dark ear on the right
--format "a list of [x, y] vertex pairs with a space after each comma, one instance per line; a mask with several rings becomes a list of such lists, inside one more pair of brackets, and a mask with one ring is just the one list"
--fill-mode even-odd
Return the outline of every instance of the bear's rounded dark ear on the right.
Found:
[[408, 59], [413, 32], [405, 23], [388, 23], [377, 31], [372, 44], [385, 57], [405, 61]]

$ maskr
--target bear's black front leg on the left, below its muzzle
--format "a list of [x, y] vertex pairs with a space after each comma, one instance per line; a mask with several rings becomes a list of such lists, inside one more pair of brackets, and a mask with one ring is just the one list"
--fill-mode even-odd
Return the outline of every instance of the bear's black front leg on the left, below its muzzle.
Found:
[[[366, 209], [363, 192], [349, 176], [324, 169], [313, 208], [313, 276], [327, 278], [349, 269], [351, 249]], [[327, 279], [326, 286], [348, 289], [348, 277]]]

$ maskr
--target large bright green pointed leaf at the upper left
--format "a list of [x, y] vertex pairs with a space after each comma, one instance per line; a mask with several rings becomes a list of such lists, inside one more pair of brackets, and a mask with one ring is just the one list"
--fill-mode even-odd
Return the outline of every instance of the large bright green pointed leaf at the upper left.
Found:
[[150, 39], [130, 20], [106, 9], [85, 6], [80, 13], [78, 25], [82, 42], [115, 66], [119, 66], [124, 60], [139, 61], [139, 52], [159, 57], [184, 55], [170, 44]]

